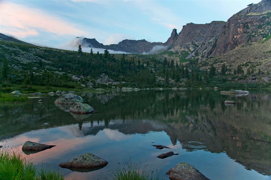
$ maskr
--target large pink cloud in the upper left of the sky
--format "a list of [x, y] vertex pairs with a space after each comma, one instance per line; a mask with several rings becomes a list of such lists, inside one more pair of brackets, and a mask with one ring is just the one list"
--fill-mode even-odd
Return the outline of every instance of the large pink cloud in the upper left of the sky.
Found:
[[23, 38], [38, 35], [38, 31], [57, 35], [78, 35], [84, 32], [76, 25], [61, 18], [48, 15], [38, 9], [13, 3], [1, 3], [1, 33], [8, 33]]

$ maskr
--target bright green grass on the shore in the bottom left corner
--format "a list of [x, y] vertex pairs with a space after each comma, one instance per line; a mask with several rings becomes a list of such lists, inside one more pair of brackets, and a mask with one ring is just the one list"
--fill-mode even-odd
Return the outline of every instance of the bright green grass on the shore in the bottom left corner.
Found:
[[59, 171], [43, 168], [38, 170], [35, 164], [21, 156], [18, 149], [8, 151], [0, 149], [0, 180], [64, 180]]

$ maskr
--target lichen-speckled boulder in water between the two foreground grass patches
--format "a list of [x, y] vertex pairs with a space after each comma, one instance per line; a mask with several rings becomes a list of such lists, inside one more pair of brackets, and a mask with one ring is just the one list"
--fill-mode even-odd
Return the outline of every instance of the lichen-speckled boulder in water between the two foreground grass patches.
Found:
[[86, 153], [83, 155], [79, 155], [75, 158], [72, 158], [69, 162], [61, 163], [58, 166], [64, 167], [64, 168], [93, 168], [93, 167], [102, 167], [106, 166], [108, 164], [107, 161], [105, 161], [102, 158], [99, 158], [98, 156], [95, 156], [91, 153]]

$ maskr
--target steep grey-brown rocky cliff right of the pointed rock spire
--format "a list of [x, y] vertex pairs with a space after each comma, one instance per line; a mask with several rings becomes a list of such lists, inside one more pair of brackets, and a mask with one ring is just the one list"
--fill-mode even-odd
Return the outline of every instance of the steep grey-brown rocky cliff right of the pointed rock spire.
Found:
[[225, 54], [237, 46], [260, 41], [268, 37], [270, 31], [271, 1], [263, 0], [234, 14], [227, 22], [183, 26], [178, 38], [173, 41], [169, 38], [169, 50], [185, 50], [189, 52], [187, 58], [195, 57], [201, 61]]

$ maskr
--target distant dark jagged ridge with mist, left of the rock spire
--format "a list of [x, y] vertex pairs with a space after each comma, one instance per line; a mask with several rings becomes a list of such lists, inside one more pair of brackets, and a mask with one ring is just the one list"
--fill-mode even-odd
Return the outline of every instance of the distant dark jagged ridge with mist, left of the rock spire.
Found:
[[151, 43], [142, 40], [123, 40], [118, 44], [103, 45], [96, 41], [96, 39], [83, 39], [83, 46], [102, 48], [102, 49], [111, 49], [114, 51], [129, 52], [134, 54], [142, 54], [143, 52], [152, 52], [154, 46], [163, 45], [163, 43]]

